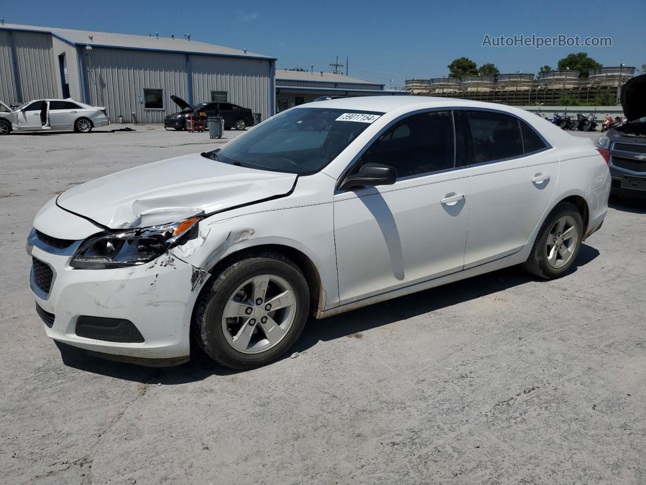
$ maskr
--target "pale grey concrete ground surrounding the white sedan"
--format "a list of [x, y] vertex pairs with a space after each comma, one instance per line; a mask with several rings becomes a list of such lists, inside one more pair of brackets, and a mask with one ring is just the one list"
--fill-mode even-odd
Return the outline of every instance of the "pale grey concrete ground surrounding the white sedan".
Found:
[[510, 268], [311, 321], [261, 369], [64, 363], [28, 290], [37, 210], [213, 141], [136, 130], [0, 138], [0, 482], [646, 483], [644, 200], [612, 199], [562, 279]]

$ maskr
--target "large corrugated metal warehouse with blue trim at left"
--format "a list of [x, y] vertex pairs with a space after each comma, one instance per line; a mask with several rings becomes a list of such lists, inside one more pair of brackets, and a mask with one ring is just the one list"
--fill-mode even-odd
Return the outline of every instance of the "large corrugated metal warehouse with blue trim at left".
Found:
[[161, 123], [189, 104], [228, 101], [274, 114], [275, 58], [189, 38], [0, 25], [0, 100], [73, 98], [107, 107], [114, 122], [131, 113]]

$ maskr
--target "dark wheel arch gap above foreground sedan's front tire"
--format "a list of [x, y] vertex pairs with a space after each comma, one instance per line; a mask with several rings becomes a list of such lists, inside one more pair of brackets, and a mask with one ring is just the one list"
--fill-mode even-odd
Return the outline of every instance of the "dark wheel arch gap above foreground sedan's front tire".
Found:
[[307, 281], [307, 286], [309, 286], [309, 313], [317, 318], [319, 318], [323, 307], [325, 305], [325, 297], [323, 291], [323, 285], [318, 272], [316, 264], [306, 255], [306, 253], [294, 248], [292, 246], [287, 246], [286, 244], [258, 244], [256, 246], [247, 246], [246, 248], [241, 248], [240, 250], [231, 252], [225, 257], [220, 259], [214, 266], [209, 270], [211, 275], [219, 274], [224, 268], [226, 268], [231, 261], [234, 259], [239, 259], [244, 257], [246, 254], [253, 254], [257, 252], [275, 252], [284, 255], [285, 257], [291, 259], [298, 268], [303, 272], [305, 280]]

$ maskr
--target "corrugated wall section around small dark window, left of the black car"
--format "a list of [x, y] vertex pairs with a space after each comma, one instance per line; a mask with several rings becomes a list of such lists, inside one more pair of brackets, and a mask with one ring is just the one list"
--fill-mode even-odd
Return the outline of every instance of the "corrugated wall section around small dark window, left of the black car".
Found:
[[[95, 47], [90, 56], [83, 49], [81, 53], [90, 71], [86, 76], [88, 103], [107, 107], [113, 122], [119, 115], [131, 122], [130, 113], [134, 111], [140, 123], [161, 123], [166, 114], [180, 111], [171, 94], [187, 97], [184, 54], [100, 47]], [[163, 89], [163, 109], [145, 109], [146, 88]]]

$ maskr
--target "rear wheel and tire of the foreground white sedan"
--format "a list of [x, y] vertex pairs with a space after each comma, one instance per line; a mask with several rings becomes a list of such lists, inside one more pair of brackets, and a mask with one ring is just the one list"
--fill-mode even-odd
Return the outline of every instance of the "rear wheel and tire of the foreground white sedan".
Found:
[[570, 202], [561, 202], [547, 216], [532, 252], [521, 266], [535, 276], [554, 279], [576, 261], [583, 238], [583, 218]]

